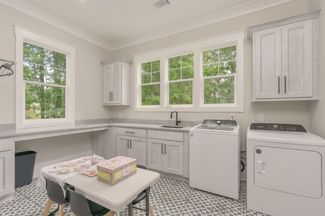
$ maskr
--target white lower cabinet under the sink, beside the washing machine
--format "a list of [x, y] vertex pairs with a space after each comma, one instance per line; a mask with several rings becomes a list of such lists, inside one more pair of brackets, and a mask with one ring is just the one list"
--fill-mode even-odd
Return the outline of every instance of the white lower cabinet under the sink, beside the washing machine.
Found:
[[148, 130], [148, 168], [183, 175], [183, 148], [182, 132]]

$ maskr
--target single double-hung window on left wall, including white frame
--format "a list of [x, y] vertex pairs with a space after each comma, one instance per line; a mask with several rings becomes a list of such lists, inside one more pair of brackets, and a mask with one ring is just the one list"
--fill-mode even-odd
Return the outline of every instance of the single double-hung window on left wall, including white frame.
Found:
[[74, 124], [75, 48], [27, 29], [16, 33], [16, 127]]

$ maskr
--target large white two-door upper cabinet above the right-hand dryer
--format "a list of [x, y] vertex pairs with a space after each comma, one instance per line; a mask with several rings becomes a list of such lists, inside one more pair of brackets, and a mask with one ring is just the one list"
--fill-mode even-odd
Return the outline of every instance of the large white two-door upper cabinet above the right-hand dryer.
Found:
[[314, 11], [248, 27], [253, 101], [318, 99], [318, 15]]

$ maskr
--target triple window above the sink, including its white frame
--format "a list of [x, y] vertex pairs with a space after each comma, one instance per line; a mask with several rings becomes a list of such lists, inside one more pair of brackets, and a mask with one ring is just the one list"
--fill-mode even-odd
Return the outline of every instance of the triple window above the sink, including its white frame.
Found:
[[135, 111], [243, 112], [243, 41], [238, 31], [136, 55]]

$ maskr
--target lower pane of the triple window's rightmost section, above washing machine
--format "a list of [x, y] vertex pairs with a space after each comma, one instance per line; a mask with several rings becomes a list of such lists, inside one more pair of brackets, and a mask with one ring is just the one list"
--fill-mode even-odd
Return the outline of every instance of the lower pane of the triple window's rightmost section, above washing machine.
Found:
[[234, 103], [235, 78], [224, 77], [204, 80], [204, 103]]

